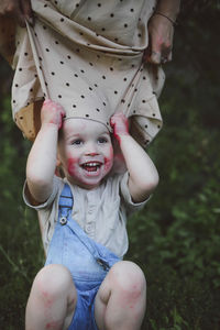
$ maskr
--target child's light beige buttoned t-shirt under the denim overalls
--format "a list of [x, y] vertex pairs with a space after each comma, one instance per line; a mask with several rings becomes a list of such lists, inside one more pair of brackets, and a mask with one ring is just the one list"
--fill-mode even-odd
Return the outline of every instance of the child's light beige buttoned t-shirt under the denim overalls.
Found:
[[[25, 195], [28, 206], [38, 212], [42, 240], [45, 252], [54, 233], [58, 219], [58, 198], [67, 183], [54, 177], [54, 188], [48, 200], [34, 207]], [[69, 184], [69, 183], [68, 183]], [[128, 173], [108, 177], [99, 187], [87, 190], [72, 186], [74, 196], [73, 219], [82, 228], [89, 238], [105, 245], [119, 257], [128, 251], [127, 217], [140, 210], [146, 201], [134, 204], [128, 189]]]

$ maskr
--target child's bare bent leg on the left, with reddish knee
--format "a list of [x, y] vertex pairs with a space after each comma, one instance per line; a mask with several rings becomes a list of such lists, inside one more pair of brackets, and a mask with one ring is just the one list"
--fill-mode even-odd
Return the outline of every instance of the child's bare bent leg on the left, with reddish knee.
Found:
[[69, 271], [47, 265], [36, 275], [26, 305], [25, 329], [67, 329], [74, 316], [77, 293]]

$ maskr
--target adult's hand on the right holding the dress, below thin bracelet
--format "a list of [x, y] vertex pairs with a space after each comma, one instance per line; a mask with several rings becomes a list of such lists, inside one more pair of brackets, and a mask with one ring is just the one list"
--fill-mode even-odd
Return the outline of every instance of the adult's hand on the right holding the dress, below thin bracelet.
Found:
[[172, 61], [174, 25], [165, 16], [154, 14], [148, 22], [148, 47], [144, 61], [152, 64], [164, 64]]

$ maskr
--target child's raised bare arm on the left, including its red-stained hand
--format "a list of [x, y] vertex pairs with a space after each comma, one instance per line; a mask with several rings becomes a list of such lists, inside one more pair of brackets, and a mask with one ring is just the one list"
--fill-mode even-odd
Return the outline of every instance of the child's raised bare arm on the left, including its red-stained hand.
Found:
[[53, 189], [56, 168], [58, 130], [65, 112], [62, 106], [45, 100], [41, 110], [41, 130], [30, 151], [26, 163], [26, 182], [31, 201], [45, 201]]

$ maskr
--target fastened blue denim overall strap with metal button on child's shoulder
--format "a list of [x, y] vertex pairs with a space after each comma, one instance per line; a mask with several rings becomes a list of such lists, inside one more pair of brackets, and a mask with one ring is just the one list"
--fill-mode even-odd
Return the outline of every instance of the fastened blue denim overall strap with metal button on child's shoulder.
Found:
[[62, 224], [66, 224], [67, 217], [72, 213], [74, 197], [69, 185], [65, 184], [58, 200], [58, 217]]

